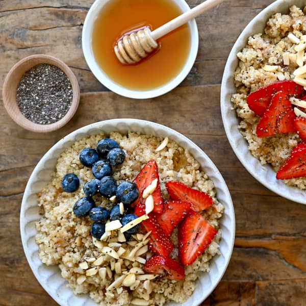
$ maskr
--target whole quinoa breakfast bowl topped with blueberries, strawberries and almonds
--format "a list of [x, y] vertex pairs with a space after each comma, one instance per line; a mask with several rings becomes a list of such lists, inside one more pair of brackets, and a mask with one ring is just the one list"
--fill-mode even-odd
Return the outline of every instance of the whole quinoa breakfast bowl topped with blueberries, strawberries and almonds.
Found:
[[[105, 143], [115, 145], [101, 158]], [[220, 172], [188, 138], [113, 119], [44, 155], [24, 192], [20, 232], [33, 273], [60, 305], [198, 305], [230, 261], [235, 215]]]

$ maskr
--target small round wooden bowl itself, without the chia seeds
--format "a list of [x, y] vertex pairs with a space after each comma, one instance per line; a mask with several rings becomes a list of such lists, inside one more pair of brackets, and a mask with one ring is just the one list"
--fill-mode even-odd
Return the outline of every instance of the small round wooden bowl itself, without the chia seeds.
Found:
[[[73, 97], [68, 112], [62, 119], [52, 124], [37, 124], [25, 118], [16, 101], [17, 87], [23, 74], [38, 64], [50, 64], [59, 67], [67, 75], [72, 87]], [[4, 81], [3, 102], [8, 114], [23, 129], [32, 132], [46, 133], [60, 129], [73, 117], [78, 109], [79, 101], [80, 87], [74, 73], [64, 62], [49, 55], [31, 55], [22, 59], [11, 68]]]

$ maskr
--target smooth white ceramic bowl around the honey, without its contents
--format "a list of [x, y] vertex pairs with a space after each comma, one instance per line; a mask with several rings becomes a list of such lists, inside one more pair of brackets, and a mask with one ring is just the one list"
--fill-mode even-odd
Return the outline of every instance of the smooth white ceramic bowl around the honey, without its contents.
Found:
[[[91, 37], [92, 37], [93, 25], [99, 12], [103, 10], [103, 7], [109, 1], [110, 0], [96, 0], [93, 3], [85, 18], [83, 32], [82, 32], [82, 47], [83, 47], [84, 57], [86, 59], [87, 65], [89, 66], [90, 70], [95, 75], [95, 77], [98, 79], [98, 81], [102, 83], [104, 86], [106, 86], [108, 89], [112, 90], [113, 92], [134, 99], [147, 99], [147, 98], [157, 97], [172, 90], [174, 87], [179, 85], [187, 77], [187, 74], [191, 70], [198, 51], [199, 38], [198, 38], [198, 30], [195, 20], [193, 19], [188, 22], [189, 30], [191, 33], [191, 45], [190, 45], [190, 52], [188, 55], [188, 59], [185, 65], [183, 66], [181, 72], [177, 74], [176, 77], [167, 84], [155, 89], [151, 90], [127, 89], [117, 84], [108, 77], [108, 75], [99, 67], [92, 53]], [[172, 0], [172, 1], [175, 2], [183, 12], [190, 10], [185, 0]]]

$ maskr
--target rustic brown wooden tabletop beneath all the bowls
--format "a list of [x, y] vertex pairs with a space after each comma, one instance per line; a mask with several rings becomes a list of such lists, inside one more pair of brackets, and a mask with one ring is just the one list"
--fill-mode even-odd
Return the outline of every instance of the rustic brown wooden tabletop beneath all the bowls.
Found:
[[[191, 7], [200, 3], [187, 2]], [[73, 119], [44, 135], [17, 126], [0, 103], [0, 305], [57, 304], [36, 281], [19, 233], [22, 194], [39, 159], [81, 126], [128, 117], [156, 121], [189, 137], [207, 152], [231, 191], [236, 213], [233, 256], [202, 305], [306, 305], [306, 206], [277, 196], [244, 169], [227, 142], [219, 107], [231, 47], [248, 21], [272, 0], [227, 0], [198, 17], [200, 46], [188, 77], [170, 93], [141, 101], [109, 92], [86, 65], [81, 33], [92, 3], [0, 0], [0, 90], [13, 64], [42, 53], [67, 63], [82, 93]]]

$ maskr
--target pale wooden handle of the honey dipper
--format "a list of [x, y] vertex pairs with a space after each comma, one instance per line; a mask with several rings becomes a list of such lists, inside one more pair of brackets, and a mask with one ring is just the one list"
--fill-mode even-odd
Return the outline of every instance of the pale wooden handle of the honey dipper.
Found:
[[196, 16], [202, 14], [203, 12], [215, 7], [219, 3], [223, 2], [224, 0], [206, 0], [205, 2], [197, 5], [190, 11], [177, 16], [176, 18], [170, 20], [169, 22], [163, 24], [161, 27], [157, 28], [153, 32], [151, 32], [151, 37], [154, 40], [161, 38], [162, 36], [170, 33], [171, 31], [175, 30], [176, 28], [181, 27], [187, 21], [195, 18]]

